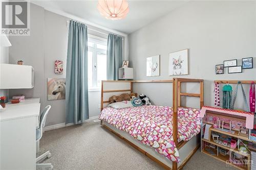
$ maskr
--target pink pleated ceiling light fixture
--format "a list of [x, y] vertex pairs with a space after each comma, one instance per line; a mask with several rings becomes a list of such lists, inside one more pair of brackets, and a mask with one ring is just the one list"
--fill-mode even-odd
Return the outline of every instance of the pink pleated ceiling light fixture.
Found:
[[98, 10], [106, 19], [118, 20], [129, 12], [126, 0], [98, 0]]

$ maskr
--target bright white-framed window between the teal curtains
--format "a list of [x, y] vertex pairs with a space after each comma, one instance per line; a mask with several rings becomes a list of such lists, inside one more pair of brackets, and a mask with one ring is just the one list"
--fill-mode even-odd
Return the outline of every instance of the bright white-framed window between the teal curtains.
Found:
[[88, 87], [99, 89], [106, 80], [106, 39], [88, 36]]

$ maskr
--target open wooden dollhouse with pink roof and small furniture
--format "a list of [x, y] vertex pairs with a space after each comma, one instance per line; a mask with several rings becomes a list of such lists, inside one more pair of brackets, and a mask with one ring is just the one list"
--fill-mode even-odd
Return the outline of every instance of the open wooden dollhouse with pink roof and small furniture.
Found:
[[[249, 145], [256, 148], [249, 134], [249, 129], [253, 129], [254, 114], [203, 106], [200, 117], [203, 117], [201, 152], [230, 166], [249, 170], [253, 151], [249, 149]], [[210, 127], [204, 128], [206, 125]]]

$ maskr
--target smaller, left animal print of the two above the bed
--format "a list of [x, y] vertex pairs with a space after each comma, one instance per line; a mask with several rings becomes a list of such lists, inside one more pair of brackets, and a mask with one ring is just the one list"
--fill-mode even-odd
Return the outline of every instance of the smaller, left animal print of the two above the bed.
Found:
[[160, 76], [160, 55], [146, 58], [146, 76]]

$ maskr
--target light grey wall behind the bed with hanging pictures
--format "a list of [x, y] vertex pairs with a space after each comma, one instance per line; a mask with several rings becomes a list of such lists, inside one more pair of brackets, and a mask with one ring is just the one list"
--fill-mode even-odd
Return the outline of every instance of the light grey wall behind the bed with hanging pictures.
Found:
[[[135, 79], [173, 79], [168, 76], [168, 54], [189, 48], [189, 75], [180, 77], [205, 80], [205, 105], [214, 104], [214, 80], [256, 80], [255, 7], [255, 1], [188, 2], [130, 34], [129, 57]], [[154, 55], [160, 55], [160, 76], [146, 77], [146, 57]], [[253, 69], [241, 74], [227, 74], [227, 70], [224, 75], [215, 74], [216, 64], [238, 59], [241, 65], [245, 57], [253, 57]], [[190, 88], [195, 90], [195, 84]], [[247, 97], [248, 89], [247, 85]], [[172, 85], [136, 84], [134, 90], [148, 94], [155, 104], [172, 105]], [[244, 109], [241, 89], [238, 98], [236, 108]]]

